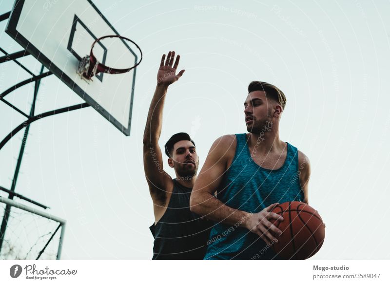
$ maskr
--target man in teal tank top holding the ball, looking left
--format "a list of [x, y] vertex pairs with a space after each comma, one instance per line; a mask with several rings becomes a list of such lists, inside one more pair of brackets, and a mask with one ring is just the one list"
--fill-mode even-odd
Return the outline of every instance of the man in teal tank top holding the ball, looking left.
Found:
[[260, 81], [248, 93], [249, 133], [215, 140], [191, 193], [191, 210], [215, 222], [206, 260], [278, 259], [270, 246], [282, 232], [271, 222], [282, 217], [270, 211], [287, 201], [309, 202], [309, 159], [279, 139], [285, 95]]

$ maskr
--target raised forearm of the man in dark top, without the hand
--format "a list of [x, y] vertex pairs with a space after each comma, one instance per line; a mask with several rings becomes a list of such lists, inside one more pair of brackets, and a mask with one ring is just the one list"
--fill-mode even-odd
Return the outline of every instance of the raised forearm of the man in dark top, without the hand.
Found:
[[144, 145], [156, 145], [160, 138], [162, 128], [162, 111], [164, 108], [165, 95], [168, 86], [157, 84], [155, 94], [149, 107], [148, 118], [146, 119], [145, 131], [143, 134]]

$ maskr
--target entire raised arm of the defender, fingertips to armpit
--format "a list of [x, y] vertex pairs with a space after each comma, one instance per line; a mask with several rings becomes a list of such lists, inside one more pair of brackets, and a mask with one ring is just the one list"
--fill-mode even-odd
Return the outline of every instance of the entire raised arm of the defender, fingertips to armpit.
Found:
[[[162, 128], [162, 111], [164, 107], [165, 95], [168, 86], [176, 82], [184, 73], [181, 70], [176, 75], [176, 68], [179, 64], [180, 56], [176, 57], [175, 52], [169, 52], [165, 59], [165, 54], [161, 58], [160, 67], [157, 72], [156, 91], [153, 95], [149, 107], [149, 113], [146, 120], [145, 131], [143, 135], [143, 164], [146, 180], [152, 198], [163, 201], [166, 196], [166, 190], [172, 183], [172, 178], [163, 169], [162, 153], [158, 146]], [[172, 67], [173, 66], [173, 67]]]

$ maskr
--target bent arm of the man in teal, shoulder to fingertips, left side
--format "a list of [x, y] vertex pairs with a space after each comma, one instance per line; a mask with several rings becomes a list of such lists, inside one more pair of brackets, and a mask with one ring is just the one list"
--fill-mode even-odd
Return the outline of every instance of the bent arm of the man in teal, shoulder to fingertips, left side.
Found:
[[191, 192], [190, 209], [216, 222], [245, 227], [258, 234], [266, 243], [270, 243], [271, 240], [275, 240], [271, 231], [275, 235], [281, 233], [268, 221], [268, 219], [283, 220], [280, 215], [270, 212], [278, 203], [258, 213], [249, 213], [231, 208], [214, 197], [214, 192], [221, 185], [227, 170], [229, 157], [234, 155], [235, 147], [234, 135], [222, 136], [215, 140]]

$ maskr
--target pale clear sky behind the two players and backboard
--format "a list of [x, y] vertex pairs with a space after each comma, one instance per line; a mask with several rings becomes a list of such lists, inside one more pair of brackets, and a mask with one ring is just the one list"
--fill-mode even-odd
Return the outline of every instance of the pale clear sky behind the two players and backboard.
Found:
[[[174, 133], [189, 133], [200, 169], [217, 137], [246, 132], [248, 84], [270, 82], [287, 96], [280, 139], [312, 165], [309, 202], [326, 224], [325, 242], [312, 259], [390, 259], [390, 228], [384, 226], [390, 218], [388, 0], [93, 2], [120, 35], [137, 42], [144, 58], [130, 136], [93, 108], [30, 127], [16, 191], [67, 221], [62, 259], [151, 259], [154, 216], [142, 136], [159, 60], [172, 50], [186, 72], [168, 89], [160, 147]], [[0, 1], [0, 14], [12, 5]], [[0, 46], [19, 51], [5, 26], [0, 22]], [[35, 58], [20, 62], [39, 73]], [[28, 77], [15, 63], [3, 63], [0, 91]], [[31, 97], [26, 86], [7, 99], [27, 111]], [[42, 80], [38, 99], [37, 112], [83, 102], [55, 76]], [[0, 137], [24, 121], [2, 102], [0, 117]], [[0, 150], [5, 188], [21, 135]], [[174, 176], [166, 160], [164, 169]]]

